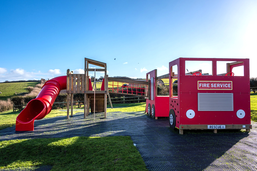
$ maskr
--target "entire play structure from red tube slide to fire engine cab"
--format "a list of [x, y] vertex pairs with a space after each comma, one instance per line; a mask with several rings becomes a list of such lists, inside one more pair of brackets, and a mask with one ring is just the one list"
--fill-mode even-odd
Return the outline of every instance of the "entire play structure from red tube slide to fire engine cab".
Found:
[[[185, 63], [211, 63], [211, 74], [186, 73]], [[218, 62], [226, 63], [226, 73], [218, 73]], [[100, 66], [89, 68], [89, 64]], [[243, 66], [243, 74], [234, 75], [233, 68]], [[176, 71], [174, 71], [176, 69]], [[99, 88], [92, 87], [89, 72], [104, 72]], [[249, 59], [178, 58], [169, 63], [169, 74], [157, 77], [157, 70], [147, 73], [146, 81], [111, 78], [106, 74], [106, 63], [85, 58], [85, 74], [73, 74], [47, 81], [36, 99], [31, 100], [17, 116], [16, 131], [34, 130], [34, 120], [42, 119], [53, 106], [62, 89], [67, 91], [67, 118], [73, 93], [84, 93], [84, 118], [91, 113], [105, 112], [107, 95], [119, 93], [146, 98], [146, 112], [154, 119], [168, 117], [171, 128], [184, 129], [252, 129], [250, 118]], [[176, 75], [174, 73], [177, 73]], [[169, 78], [169, 96], [157, 96], [157, 80]], [[173, 82], [178, 79], [178, 93], [173, 96]]]

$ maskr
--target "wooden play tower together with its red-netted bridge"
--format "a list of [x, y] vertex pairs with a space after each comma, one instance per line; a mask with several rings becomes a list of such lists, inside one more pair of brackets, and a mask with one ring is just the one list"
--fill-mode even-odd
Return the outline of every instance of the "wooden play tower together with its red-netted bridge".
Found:
[[[89, 64], [100, 68], [89, 68]], [[96, 72], [104, 72], [104, 79], [101, 82], [101, 86], [96, 86], [95, 80], [92, 80], [94, 81], [92, 86], [89, 72], [94, 72], [94, 74]], [[69, 102], [71, 102], [71, 116], [73, 115], [73, 93], [84, 93], [84, 118], [90, 113], [89, 107], [91, 108], [91, 113], [104, 112], [104, 117], [106, 118], [107, 95], [109, 95], [109, 93], [135, 95], [148, 98], [148, 82], [108, 77], [106, 63], [85, 58], [84, 74], [73, 74], [70, 69], [67, 70], [66, 91], [68, 102], [67, 118], [69, 118]]]

